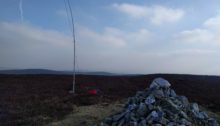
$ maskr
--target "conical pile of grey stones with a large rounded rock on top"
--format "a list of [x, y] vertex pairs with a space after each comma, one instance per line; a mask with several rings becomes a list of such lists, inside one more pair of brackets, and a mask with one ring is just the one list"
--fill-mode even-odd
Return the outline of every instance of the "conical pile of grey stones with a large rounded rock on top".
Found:
[[96, 126], [219, 126], [197, 103], [179, 96], [171, 84], [156, 78], [149, 89], [130, 97], [124, 109]]

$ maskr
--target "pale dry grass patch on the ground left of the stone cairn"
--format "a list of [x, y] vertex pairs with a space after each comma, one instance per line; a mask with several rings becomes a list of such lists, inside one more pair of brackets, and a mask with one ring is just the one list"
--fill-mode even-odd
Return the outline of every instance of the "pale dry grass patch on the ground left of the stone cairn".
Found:
[[121, 111], [122, 102], [114, 102], [112, 104], [102, 103], [90, 106], [75, 107], [70, 115], [64, 120], [52, 122], [47, 126], [91, 126], [105, 117]]

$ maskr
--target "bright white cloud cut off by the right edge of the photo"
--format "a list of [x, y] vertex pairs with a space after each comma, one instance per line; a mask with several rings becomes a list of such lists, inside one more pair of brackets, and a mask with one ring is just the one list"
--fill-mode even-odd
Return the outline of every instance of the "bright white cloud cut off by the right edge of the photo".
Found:
[[200, 28], [185, 30], [176, 35], [176, 41], [209, 45], [220, 44], [220, 15], [207, 19]]

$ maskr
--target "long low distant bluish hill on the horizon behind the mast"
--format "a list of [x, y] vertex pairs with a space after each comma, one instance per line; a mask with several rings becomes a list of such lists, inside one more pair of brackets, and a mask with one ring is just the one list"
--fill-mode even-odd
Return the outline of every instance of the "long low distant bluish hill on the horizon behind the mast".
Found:
[[[72, 75], [72, 71], [56, 71], [48, 69], [15, 69], [15, 70], [0, 70], [0, 74], [53, 74], [53, 75]], [[108, 72], [76, 72], [83, 75], [116, 75]]]

